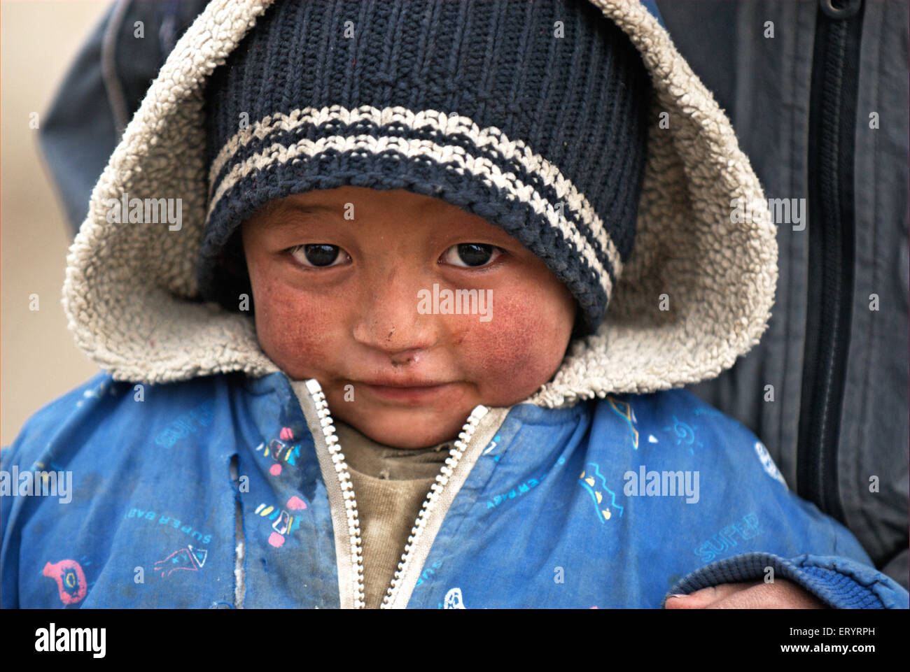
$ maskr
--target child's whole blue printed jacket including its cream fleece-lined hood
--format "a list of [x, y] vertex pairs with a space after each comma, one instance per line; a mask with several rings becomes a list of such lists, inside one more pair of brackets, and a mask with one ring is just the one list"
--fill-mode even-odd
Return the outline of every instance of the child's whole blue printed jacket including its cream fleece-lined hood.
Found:
[[[832, 607], [906, 607], [755, 436], [676, 389], [763, 333], [774, 230], [729, 122], [662, 26], [642, 5], [594, 4], [655, 90], [636, 248], [601, 328], [551, 381], [474, 409], [384, 606], [658, 607], [785, 577]], [[249, 316], [197, 300], [202, 86], [268, 5], [207, 5], [95, 187], [64, 307], [105, 373], [5, 452], [4, 607], [363, 606], [356, 496], [319, 382], [288, 380]], [[112, 200], [161, 197], [180, 199], [178, 221], [110, 221]], [[51, 485], [56, 497], [22, 496]]]

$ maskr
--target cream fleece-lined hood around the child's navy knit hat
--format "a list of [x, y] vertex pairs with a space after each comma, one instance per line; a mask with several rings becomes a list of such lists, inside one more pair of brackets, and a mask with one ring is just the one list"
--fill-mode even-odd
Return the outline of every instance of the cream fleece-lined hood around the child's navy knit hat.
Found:
[[[651, 75], [648, 155], [632, 255], [597, 333], [573, 341], [527, 400], [547, 407], [716, 376], [758, 342], [777, 280], [762, 188], [713, 96], [643, 5], [591, 2], [629, 35]], [[205, 84], [270, 4], [207, 5], [95, 186], [67, 257], [64, 309], [78, 346], [117, 380], [278, 370], [258, 346], [253, 317], [201, 302], [196, 285], [208, 206]], [[112, 216], [112, 202], [128, 214], [133, 199], [175, 199], [179, 223]]]

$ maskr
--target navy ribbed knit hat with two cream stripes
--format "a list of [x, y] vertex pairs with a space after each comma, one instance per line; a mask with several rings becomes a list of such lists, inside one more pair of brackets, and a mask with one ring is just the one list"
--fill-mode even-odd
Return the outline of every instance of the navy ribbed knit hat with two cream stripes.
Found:
[[239, 226], [269, 201], [407, 189], [520, 240], [591, 333], [632, 252], [649, 96], [629, 37], [581, 0], [279, 1], [205, 89], [200, 296], [249, 294]]

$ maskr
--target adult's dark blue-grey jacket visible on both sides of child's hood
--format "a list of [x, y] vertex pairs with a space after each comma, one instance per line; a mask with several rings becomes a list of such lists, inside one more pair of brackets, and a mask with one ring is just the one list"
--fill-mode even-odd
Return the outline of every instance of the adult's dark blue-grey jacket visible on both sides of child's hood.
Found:
[[[176, 44], [193, 19], [205, 8], [206, 0], [182, 0], [181, 2], [162, 3], [160, 0], [133, 0], [119, 6], [122, 11], [110, 11], [88, 37], [82, 46], [76, 61], [61, 83], [51, 107], [45, 113], [40, 129], [40, 138], [44, 150], [46, 165], [52, 171], [59, 187], [59, 194], [66, 207], [69, 223], [73, 232], [78, 231], [86, 215], [86, 206], [92, 187], [95, 186], [107, 158], [114, 150], [116, 141], [129, 121], [129, 116], [136, 112], [147, 85], [157, 74], [165, 57]], [[661, 20], [653, 2], [645, 3], [648, 9]], [[786, 132], [801, 127], [794, 124], [791, 115], [794, 105], [789, 101], [802, 97], [806, 103], [799, 105], [808, 124], [807, 118], [812, 110], [809, 104], [812, 78], [805, 76], [795, 85], [799, 89], [794, 93], [790, 87], [782, 87], [786, 73], [794, 71], [794, 59], [802, 60], [804, 72], [811, 72], [814, 35], [819, 29], [814, 17], [824, 12], [817, 5], [808, 3], [799, 5], [797, 13], [803, 13], [807, 20], [794, 21], [786, 15], [792, 8], [779, 3], [768, 4], [723, 4], [723, 3], [679, 3], [672, 0], [661, 2], [662, 14], [666, 15], [674, 43], [682, 55], [692, 65], [693, 70], [718, 100], [718, 103], [730, 115], [736, 134], [743, 149], [750, 156], [753, 168], [760, 177], [769, 194], [781, 195], [790, 193], [791, 186], [802, 179], [804, 156], [808, 155], [809, 135], [797, 134], [795, 139]], [[856, 207], [856, 228], [870, 229], [879, 223], [889, 223], [890, 228], [883, 235], [881, 226], [876, 236], [859, 236], [854, 239], [856, 246], [869, 246], [867, 252], [858, 254], [857, 259], [865, 258], [867, 264], [855, 263], [851, 266], [857, 278], [853, 289], [861, 303], [865, 304], [868, 286], [875, 286], [875, 292], [882, 297], [883, 306], [908, 305], [908, 285], [903, 281], [905, 274], [897, 271], [907, 266], [907, 236], [910, 229], [907, 223], [907, 212], [900, 207], [899, 196], [907, 181], [907, 162], [905, 144], [902, 139], [907, 133], [907, 117], [903, 116], [907, 98], [907, 12], [910, 5], [901, 2], [865, 4], [862, 15], [852, 18], [860, 24], [860, 56], [863, 59], [857, 73], [858, 97], [862, 101], [872, 96], [888, 95], [892, 99], [877, 104], [883, 114], [893, 115], [893, 119], [880, 125], [875, 132], [860, 135], [857, 141], [864, 145], [855, 147], [854, 163], [871, 162], [875, 165], [888, 165], [885, 171], [859, 170], [854, 174], [844, 173], [844, 179], [865, 180], [865, 185], [856, 189], [858, 194], [875, 195], [876, 187], [880, 194], [892, 194], [895, 197], [879, 201], [879, 209], [873, 207]], [[775, 19], [776, 15], [776, 19]], [[897, 20], [894, 20], [895, 15]], [[794, 26], [799, 31], [787, 30], [779, 33], [775, 39], [791, 40], [799, 49], [781, 49], [780, 45], [769, 45], [763, 31], [753, 30], [756, 17], [759, 23], [774, 19], [775, 25], [780, 22]], [[828, 21], [834, 21], [826, 17]], [[159, 48], [149, 49], [144, 41], [132, 38], [136, 19], [145, 21], [148, 35], [158, 36]], [[898, 29], [900, 28], [900, 29]], [[720, 31], [720, 32], [719, 32]], [[706, 35], [723, 35], [725, 39], [706, 39]], [[114, 40], [105, 40], [106, 33], [116, 35]], [[733, 36], [734, 35], [734, 36]], [[881, 47], [883, 53], [900, 53], [897, 59], [903, 68], [895, 69], [890, 62], [877, 58], [878, 45], [883, 41], [892, 41]], [[736, 52], [743, 48], [743, 43], [752, 41], [757, 48], [768, 47], [760, 58], [736, 58]], [[760, 64], [761, 67], [756, 67]], [[818, 68], [822, 65], [817, 64]], [[104, 73], [115, 76], [106, 78]], [[887, 80], [885, 85], [880, 82]], [[747, 84], [743, 84], [747, 83]], [[737, 85], [738, 84], [738, 85]], [[736, 97], [736, 90], [746, 90], [752, 95]], [[760, 94], [756, 94], [760, 92]], [[789, 96], [789, 97], [788, 97]], [[769, 99], [775, 103], [769, 105]], [[126, 105], [118, 104], [123, 100]], [[119, 114], [118, 114], [119, 113]], [[855, 119], [854, 119], [855, 121]], [[835, 133], [835, 129], [825, 127], [824, 132]], [[885, 142], [879, 138], [888, 135]], [[775, 146], [776, 145], [776, 146]], [[794, 148], [795, 146], [795, 148]], [[776, 151], [788, 147], [782, 152]], [[893, 179], [895, 185], [885, 184]], [[801, 194], [808, 191], [805, 186]], [[880, 207], [891, 210], [883, 216]], [[896, 208], [895, 208], [896, 206]], [[868, 221], [863, 218], [868, 217]], [[733, 366], [717, 378], [712, 378], [691, 386], [697, 395], [716, 406], [723, 413], [733, 416], [745, 426], [753, 427], [757, 436], [767, 441], [768, 451], [777, 464], [781, 465], [784, 477], [796, 484], [798, 463], [808, 459], [819, 463], [818, 450], [809, 457], [800, 456], [798, 446], [798, 423], [800, 413], [794, 408], [803, 404], [803, 386], [781, 385], [787, 376], [794, 372], [785, 366], [787, 361], [796, 361], [794, 357], [803, 357], [806, 342], [805, 334], [795, 333], [788, 329], [789, 324], [802, 324], [813, 310], [824, 306], [824, 302], [807, 301], [804, 292], [806, 283], [814, 285], [809, 276], [808, 256], [805, 254], [802, 240], [804, 231], [798, 226], [778, 227], [780, 253], [786, 256], [785, 266], [792, 277], [797, 275], [804, 279], [800, 282], [786, 283], [787, 291], [778, 295], [774, 314], [769, 321], [770, 336], [756, 346], [743, 362]], [[815, 242], [811, 241], [810, 246]], [[899, 250], [897, 255], [888, 251]], [[826, 260], [827, 263], [828, 260]], [[836, 259], [834, 260], [836, 261]], [[889, 278], [885, 284], [876, 278]], [[905, 314], [904, 314], [905, 315]], [[880, 322], [888, 317], [893, 320], [885, 328]], [[866, 399], [866, 408], [875, 409], [875, 414], [890, 418], [889, 422], [867, 422], [862, 413], [842, 413], [840, 429], [829, 433], [829, 440], [838, 442], [838, 451], [849, 456], [846, 461], [838, 462], [837, 478], [830, 479], [833, 485], [827, 493], [834, 500], [822, 502], [815, 499], [822, 510], [844, 521], [861, 544], [867, 549], [877, 567], [906, 587], [907, 582], [907, 457], [905, 447], [908, 444], [908, 416], [903, 409], [908, 406], [907, 376], [908, 361], [905, 353], [908, 346], [907, 323], [901, 311], [876, 313], [862, 310], [854, 311], [848, 338], [842, 343], [852, 343], [851, 347], [864, 350], [865, 354], [847, 357], [848, 367], [867, 369], [874, 367], [869, 376], [844, 376], [843, 398], [851, 399], [851, 406], [856, 406], [856, 399]], [[857, 336], [865, 329], [862, 336]], [[829, 332], [834, 337], [834, 331]], [[811, 336], [811, 335], [810, 335]], [[843, 335], [842, 335], [843, 336]], [[789, 348], [789, 349], [788, 349]], [[871, 358], [870, 358], [871, 357]], [[750, 366], [757, 361], [776, 363], [777, 375], [769, 373], [761, 366]], [[821, 370], [824, 364], [819, 357], [806, 357], [804, 367], [816, 367]], [[898, 371], [898, 384], [884, 384], [890, 380], [888, 372]], [[801, 372], [796, 371], [796, 376]], [[756, 403], [765, 395], [764, 385], [773, 383], [778, 394], [789, 393], [792, 397], [778, 397], [778, 403]], [[854, 388], [854, 386], [856, 386]], [[728, 394], [736, 389], [736, 395]], [[833, 398], [840, 396], [833, 395]], [[816, 414], [824, 413], [823, 405], [807, 404]], [[829, 415], [830, 417], [830, 415]], [[899, 422], [898, 422], [899, 420]], [[862, 433], [864, 439], [856, 440]], [[835, 436], [836, 434], [836, 436]], [[845, 468], [841, 468], [846, 465]], [[786, 468], [785, 468], [786, 467]], [[830, 466], [826, 467], [830, 468]], [[882, 478], [881, 489], [871, 492], [852, 484], [863, 475], [888, 475]], [[810, 501], [814, 495], [810, 491], [802, 494]]]

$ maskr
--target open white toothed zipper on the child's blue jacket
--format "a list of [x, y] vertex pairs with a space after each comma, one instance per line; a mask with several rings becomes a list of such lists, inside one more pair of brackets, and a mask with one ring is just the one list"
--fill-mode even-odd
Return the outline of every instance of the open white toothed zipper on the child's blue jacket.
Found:
[[[345, 462], [344, 454], [341, 452], [339, 438], [336, 436], [335, 426], [332, 424], [334, 421], [329, 413], [329, 404], [326, 402], [326, 396], [322, 391], [322, 387], [319, 385], [319, 381], [315, 378], [308, 380], [307, 390], [309, 396], [313, 398], [313, 402], [316, 405], [316, 413], [317, 416], [319, 416], [319, 425], [322, 428], [322, 435], [325, 437], [332, 464], [335, 466], [335, 472], [339, 477], [341, 496], [343, 497], [345, 510], [348, 515], [351, 563], [354, 570], [354, 576], [357, 580], [354, 594], [354, 608], [363, 609], [366, 608], [363, 590], [363, 554], [361, 551], [360, 523], [357, 513], [357, 502], [354, 498], [354, 486], [351, 484], [348, 463]], [[418, 541], [420, 541], [420, 537], [423, 535], [424, 524], [429, 519], [430, 513], [432, 513], [433, 509], [436, 507], [440, 494], [449, 483], [449, 478], [452, 475], [452, 472], [455, 471], [455, 467], [458, 466], [461, 456], [468, 449], [468, 446], [470, 446], [471, 437], [474, 436], [474, 431], [477, 429], [480, 418], [486, 416], [488, 411], [489, 409], [486, 406], [477, 406], [470, 412], [468, 422], [461, 427], [459, 437], [455, 441], [455, 446], [449, 451], [449, 457], [446, 457], [445, 465], [442, 466], [440, 473], [437, 474], [436, 482], [430, 486], [430, 494], [423, 502], [423, 506], [420, 507], [420, 514], [418, 514], [414, 526], [410, 528], [410, 536], [408, 537], [408, 543], [404, 547], [404, 553], [401, 555], [401, 562], [399, 562], [398, 569], [395, 571], [395, 576], [392, 578], [391, 585], [386, 590], [386, 595], [382, 598], [382, 605], [379, 608], [389, 608], [389, 604], [391, 604], [392, 600], [395, 598], [401, 584], [401, 579], [405, 576], [410, 566], [411, 549], [416, 547]], [[326, 484], [327, 487], [328, 485], [329, 484]]]

